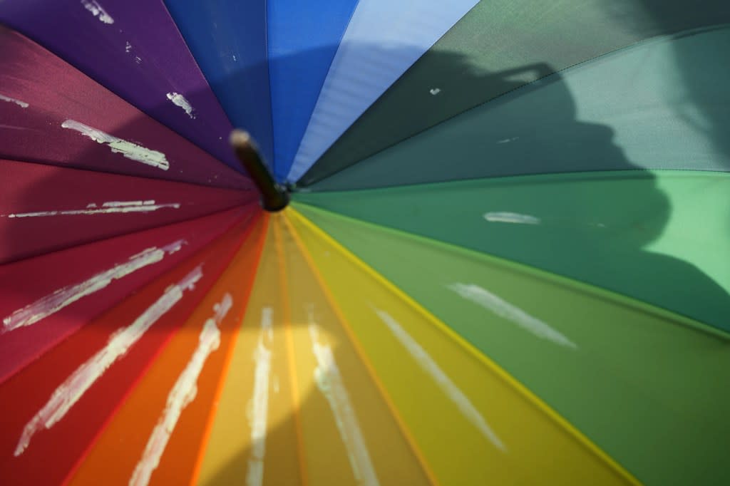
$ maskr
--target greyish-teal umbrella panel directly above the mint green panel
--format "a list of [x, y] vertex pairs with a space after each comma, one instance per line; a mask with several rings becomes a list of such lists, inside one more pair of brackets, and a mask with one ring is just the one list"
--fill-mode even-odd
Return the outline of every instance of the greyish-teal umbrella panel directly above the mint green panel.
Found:
[[[728, 171], [730, 62], [721, 61], [728, 53], [728, 26], [642, 42], [458, 114], [312, 189], [570, 171]], [[485, 86], [490, 79], [485, 75]], [[401, 116], [434, 103], [451, 106], [448, 88], [434, 96], [425, 85], [418, 89], [431, 104], [423, 100], [418, 109], [403, 108]], [[385, 121], [380, 126], [390, 127]]]

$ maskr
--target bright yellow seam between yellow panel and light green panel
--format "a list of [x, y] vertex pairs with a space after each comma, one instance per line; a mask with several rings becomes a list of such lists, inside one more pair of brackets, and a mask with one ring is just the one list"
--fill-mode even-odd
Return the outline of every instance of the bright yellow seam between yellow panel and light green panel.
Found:
[[[522, 385], [517, 379], [512, 377], [511, 374], [509, 374], [505, 369], [502, 368], [502, 366], [499, 366], [495, 361], [491, 360], [488, 356], [484, 355], [483, 352], [480, 352], [475, 348], [471, 343], [466, 341], [463, 337], [459, 336], [456, 331], [453, 331], [446, 323], [442, 322], [438, 317], [431, 314], [428, 310], [426, 310], [423, 306], [420, 306], [418, 302], [413, 300], [410, 296], [408, 296], [406, 293], [404, 293], [399, 288], [396, 288], [395, 285], [393, 285], [392, 282], [390, 282], [388, 279], [383, 277], [383, 275], [379, 274], [377, 271], [372, 269], [367, 263], [364, 261], [361, 261], [360, 258], [358, 258], [353, 252], [350, 252], [350, 250], [347, 250], [347, 248], [343, 247], [342, 244], [339, 244], [336, 242], [331, 236], [326, 234], [321, 228], [319, 228], [315, 223], [312, 223], [307, 217], [302, 215], [300, 212], [296, 211], [296, 209], [292, 208], [293, 217], [296, 217], [299, 222], [301, 222], [303, 225], [305, 225], [307, 228], [310, 229], [313, 233], [320, 236], [320, 238], [324, 239], [328, 244], [330, 244], [332, 247], [334, 247], [337, 251], [339, 251], [342, 255], [347, 258], [350, 262], [358, 266], [362, 271], [364, 271], [366, 274], [368, 274], [370, 277], [375, 279], [376, 282], [380, 283], [380, 285], [383, 285], [383, 287], [387, 290], [389, 290], [391, 293], [395, 294], [398, 298], [402, 299], [406, 304], [412, 307], [412, 309], [415, 310], [419, 315], [423, 316], [429, 323], [434, 325], [439, 331], [444, 333], [447, 337], [450, 339], [453, 339], [456, 344], [464, 348], [466, 352], [468, 352], [470, 355], [472, 355], [474, 358], [479, 360], [481, 363], [483, 363], [488, 369], [490, 369], [494, 374], [496, 374], [497, 377], [504, 380], [504, 382], [507, 383], [507, 385], [510, 385], [513, 389], [517, 391], [521, 396], [523, 396], [529, 403], [533, 404], [539, 411], [544, 413], [548, 416], [550, 420], [553, 420], [555, 423], [558, 424], [566, 433], [569, 434], [569, 436], [572, 436], [578, 444], [583, 445], [586, 449], [588, 449], [590, 452], [593, 453], [593, 455], [596, 455], [599, 460], [602, 460], [604, 463], [607, 464], [609, 468], [615, 471], [618, 476], [622, 477], [626, 480], [626, 482], [629, 482], [629, 484], [632, 485], [640, 485], [641, 482], [637, 478], [634, 477], [633, 474], [631, 474], [626, 468], [623, 468], [621, 464], [613, 460], [609, 455], [607, 455], [604, 450], [602, 450], [600, 447], [598, 447], [596, 444], [591, 441], [591, 439], [588, 438], [588, 436], [585, 436], [581, 431], [579, 431], [577, 428], [575, 428], [571, 423], [569, 423], [564, 417], [561, 416], [556, 410], [554, 410], [550, 405], [542, 401], [537, 395], [532, 393], [527, 387]], [[287, 222], [288, 223], [288, 222]], [[291, 224], [291, 223], [288, 223]], [[301, 246], [301, 242], [299, 242], [299, 239], [296, 238], [297, 244]], [[307, 255], [308, 256], [308, 255]], [[309, 259], [308, 259], [309, 261]], [[312, 265], [312, 262], [310, 261], [310, 265]], [[315, 270], [315, 274], [317, 274], [318, 279], [321, 277], [312, 267], [313, 270]], [[328, 298], [331, 299], [331, 296], [328, 295]], [[337, 309], [339, 311], [339, 309]], [[347, 326], [345, 325], [345, 328]], [[348, 334], [350, 333], [349, 329], [347, 329]], [[352, 339], [352, 338], [351, 338]], [[359, 349], [356, 345], [356, 349]]]

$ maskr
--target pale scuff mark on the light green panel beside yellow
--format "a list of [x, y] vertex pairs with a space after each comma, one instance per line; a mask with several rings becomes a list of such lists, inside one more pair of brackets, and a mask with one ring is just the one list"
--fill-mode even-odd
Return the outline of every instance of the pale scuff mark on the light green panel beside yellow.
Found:
[[458, 293], [459, 296], [472, 301], [475, 304], [483, 306], [499, 317], [510, 320], [523, 328], [525, 331], [537, 336], [539, 339], [546, 339], [563, 347], [569, 347], [577, 350], [577, 345], [564, 336], [562, 333], [551, 328], [550, 325], [532, 317], [517, 306], [513, 306], [507, 301], [502, 300], [499, 296], [494, 295], [488, 290], [481, 288], [479, 285], [453, 283], [447, 285], [447, 288]]

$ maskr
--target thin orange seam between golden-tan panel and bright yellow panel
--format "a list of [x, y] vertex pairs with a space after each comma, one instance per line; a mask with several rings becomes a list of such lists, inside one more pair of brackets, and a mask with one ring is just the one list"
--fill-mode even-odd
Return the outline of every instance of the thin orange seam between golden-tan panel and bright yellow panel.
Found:
[[[301, 220], [304, 220], [304, 217], [302, 217], [299, 214], [299, 212], [296, 212], [296, 210], [293, 210], [293, 216], [297, 217]], [[431, 485], [434, 485], [434, 486], [439, 485], [439, 481], [438, 481], [436, 475], [434, 474], [433, 471], [431, 471], [431, 468], [429, 468], [429, 465], [426, 462], [426, 458], [423, 456], [423, 452], [420, 451], [420, 448], [416, 444], [415, 439], [411, 435], [410, 431], [408, 431], [408, 428], [407, 428], [404, 420], [401, 418], [398, 410], [396, 409], [395, 404], [393, 404], [393, 401], [391, 400], [391, 397], [388, 394], [387, 390], [385, 390], [383, 383], [380, 382], [380, 379], [377, 378], [377, 374], [375, 373], [372, 363], [370, 363], [370, 360], [366, 357], [366, 354], [365, 354], [364, 350], [362, 349], [360, 342], [358, 342], [358, 339], [356, 338], [355, 333], [353, 333], [353, 330], [350, 327], [350, 323], [347, 321], [347, 318], [345, 317], [344, 313], [337, 305], [337, 302], [335, 301], [334, 296], [332, 295], [328, 286], [324, 282], [322, 274], [320, 274], [320, 271], [317, 269], [317, 266], [315, 266], [314, 261], [312, 261], [312, 257], [310, 256], [310, 253], [307, 251], [307, 249], [304, 247], [304, 243], [301, 242], [301, 239], [299, 238], [299, 234], [297, 234], [296, 229], [289, 222], [287, 217], [283, 217], [283, 220], [284, 220], [285, 225], [287, 226], [288, 230], [290, 231], [296, 246], [299, 247], [299, 251], [301, 252], [301, 255], [304, 256], [304, 260], [307, 261], [307, 265], [310, 267], [312, 274], [315, 276], [317, 283], [320, 285], [320, 288], [322, 289], [328, 304], [331, 306], [331, 308], [334, 312], [334, 315], [337, 316], [337, 319], [341, 323], [342, 328], [345, 330], [345, 333], [347, 334], [347, 339], [349, 339], [350, 342], [353, 344], [353, 347], [355, 348], [358, 358], [360, 358], [361, 363], [363, 363], [363, 365], [365, 366], [365, 369], [367, 370], [370, 378], [372, 379], [372, 382], [374, 383], [375, 387], [377, 387], [377, 390], [380, 393], [380, 396], [383, 398], [383, 402], [385, 403], [385, 406], [387, 406], [388, 409], [391, 411], [391, 414], [393, 415], [393, 420], [396, 421], [396, 424], [398, 425], [398, 428], [400, 429], [401, 434], [403, 435], [404, 439], [407, 441], [408, 445], [410, 446], [410, 448], [413, 452], [413, 455], [415, 455], [415, 457], [416, 457], [416, 460], [418, 460], [418, 463], [419, 463], [420, 467], [422, 468], [423, 473], [426, 474], [426, 477], [429, 478], [429, 482], [431, 483]], [[337, 247], [337, 249], [339, 250], [339, 246]]]

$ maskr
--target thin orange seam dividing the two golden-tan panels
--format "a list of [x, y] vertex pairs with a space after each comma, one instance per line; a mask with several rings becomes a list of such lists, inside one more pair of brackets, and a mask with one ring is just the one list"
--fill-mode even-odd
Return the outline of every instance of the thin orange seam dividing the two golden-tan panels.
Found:
[[277, 253], [277, 260], [278, 260], [278, 267], [279, 267], [279, 279], [281, 283], [281, 293], [282, 293], [282, 306], [283, 306], [283, 322], [284, 322], [284, 329], [286, 334], [286, 347], [287, 352], [289, 355], [288, 359], [288, 366], [289, 366], [289, 377], [291, 380], [291, 398], [293, 402], [293, 415], [294, 415], [294, 423], [296, 428], [296, 457], [299, 462], [299, 474], [301, 475], [301, 485], [307, 486], [309, 482], [309, 475], [307, 473], [307, 462], [304, 458], [304, 431], [301, 427], [301, 404], [300, 404], [300, 393], [299, 393], [299, 385], [297, 384], [296, 379], [296, 365], [295, 365], [295, 347], [294, 347], [294, 338], [293, 333], [291, 331], [291, 309], [289, 307], [289, 289], [287, 285], [287, 279], [286, 279], [286, 261], [284, 258], [284, 247], [283, 247], [283, 240], [282, 240], [282, 234], [281, 234], [281, 221], [284, 219], [283, 215], [280, 214], [273, 214], [272, 215], [275, 220], [272, 222], [272, 226], [274, 227], [274, 242], [276, 246], [276, 253]]

